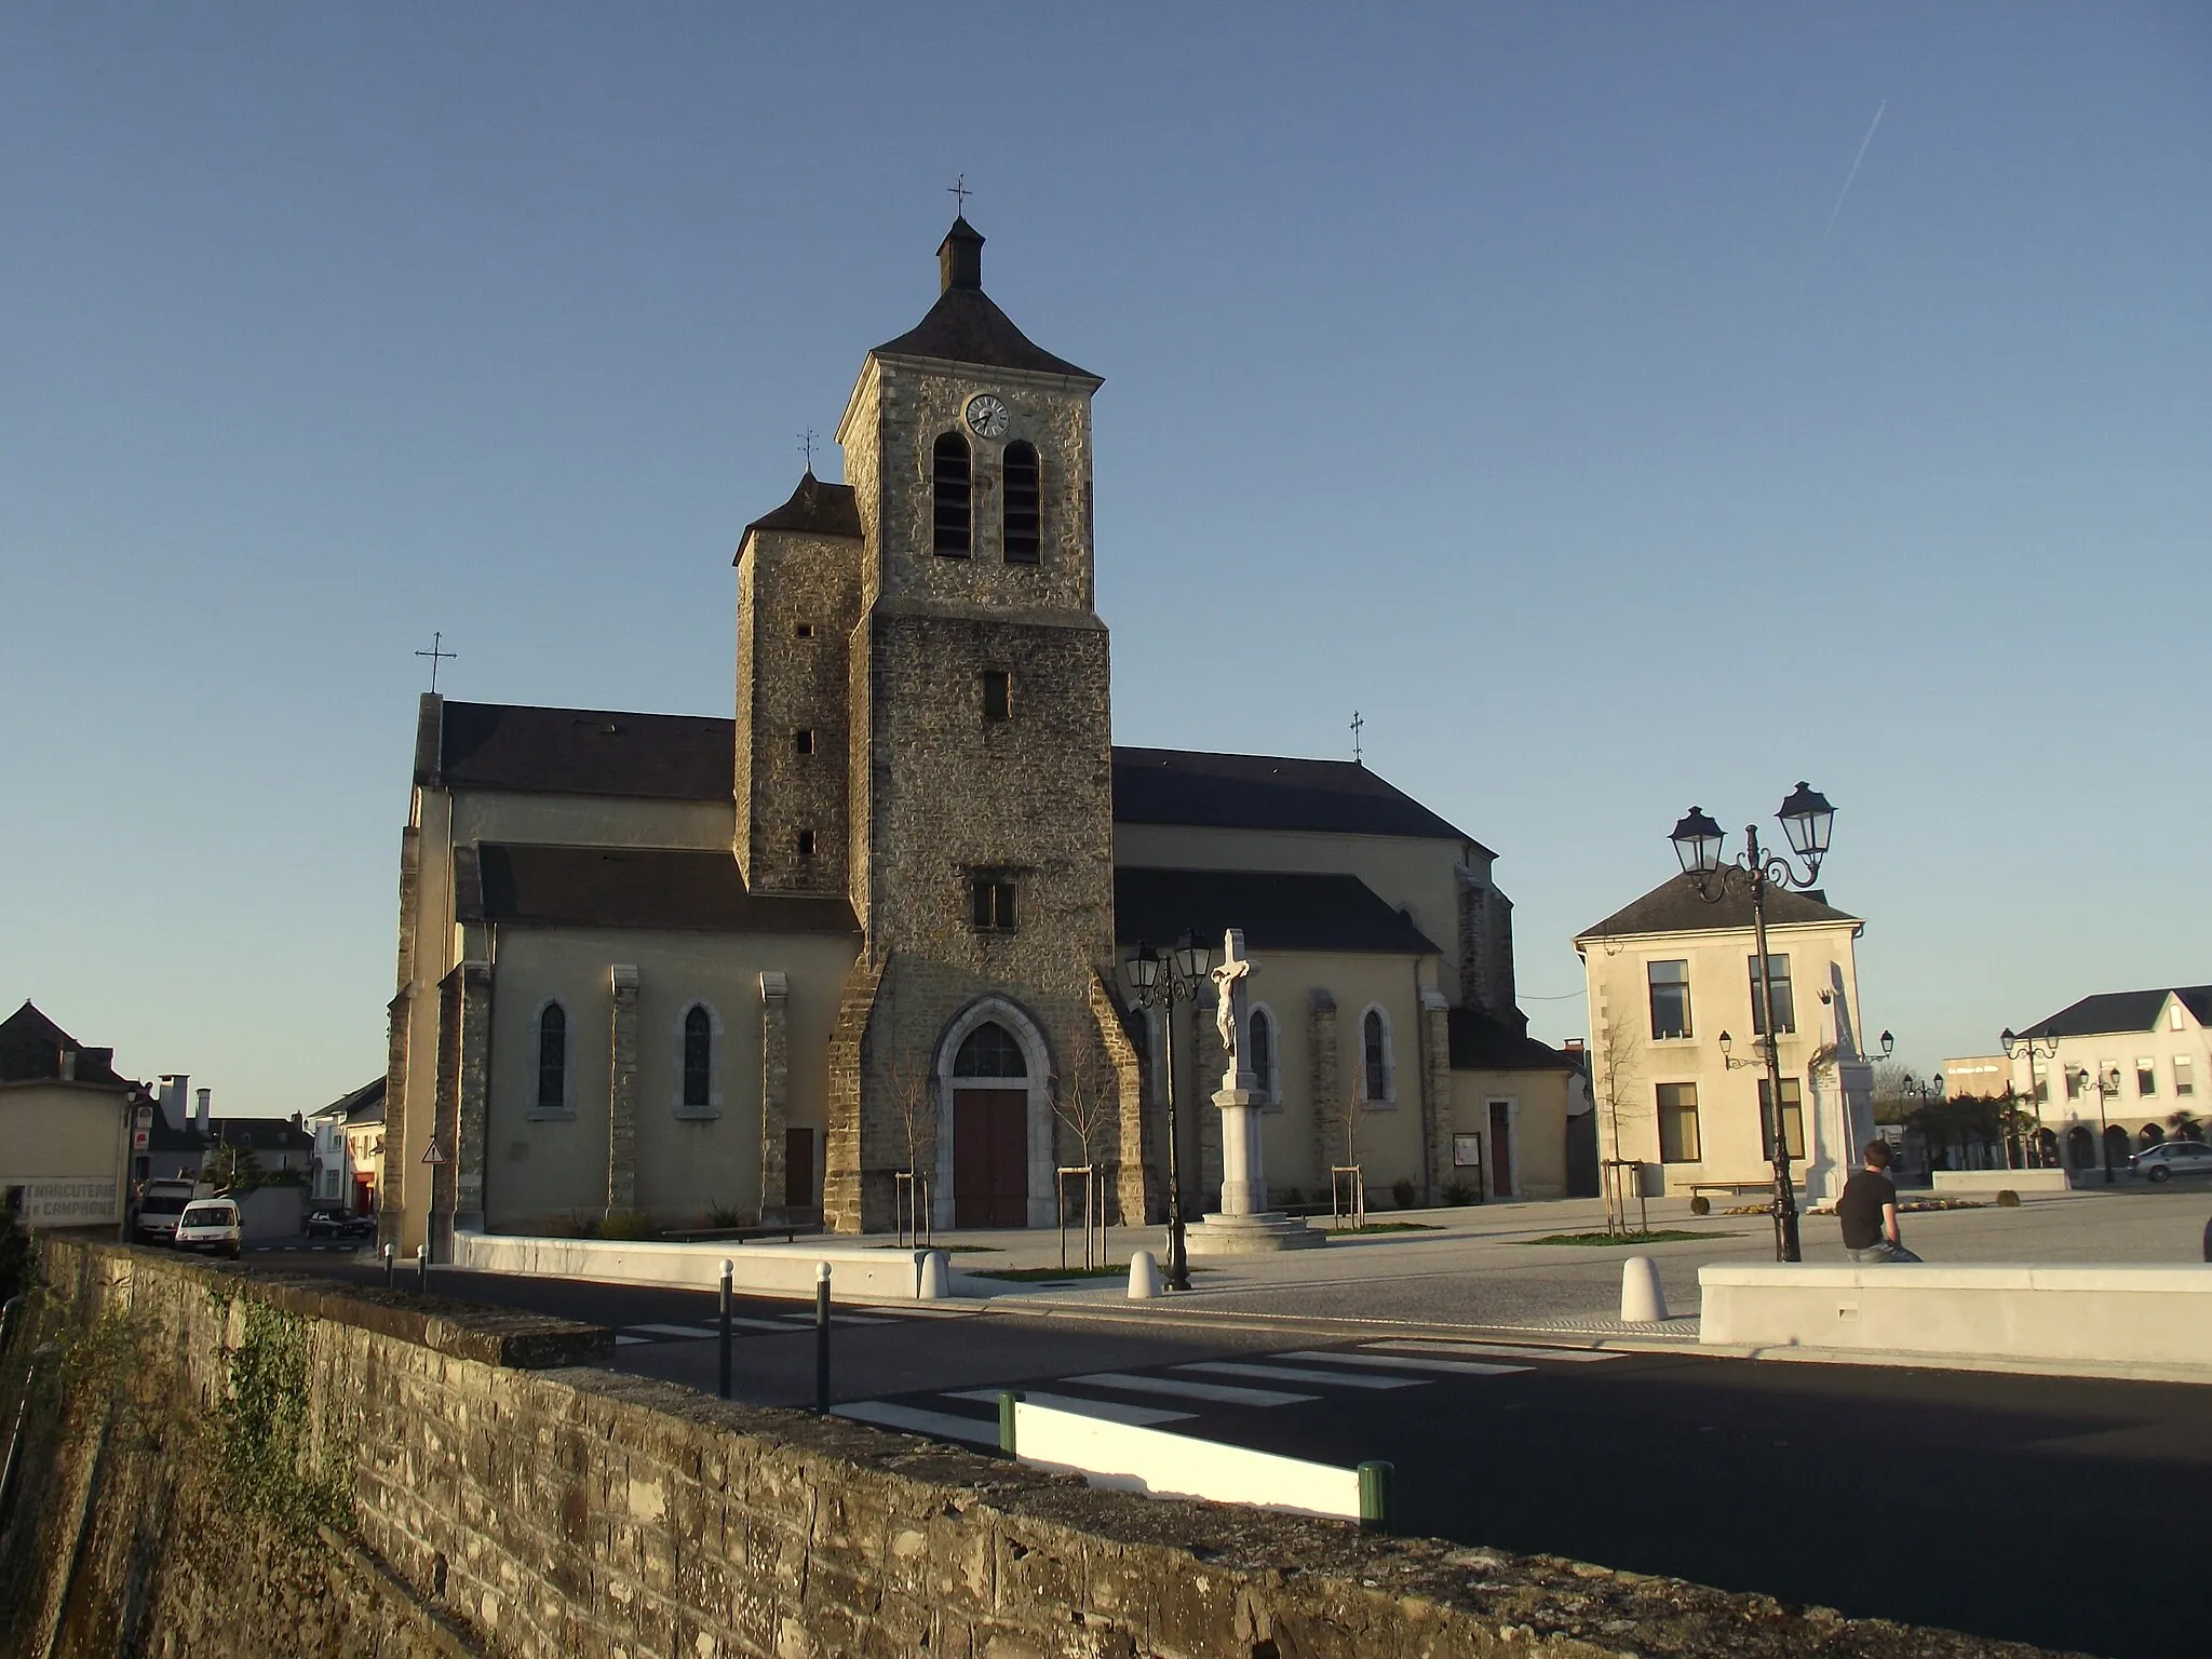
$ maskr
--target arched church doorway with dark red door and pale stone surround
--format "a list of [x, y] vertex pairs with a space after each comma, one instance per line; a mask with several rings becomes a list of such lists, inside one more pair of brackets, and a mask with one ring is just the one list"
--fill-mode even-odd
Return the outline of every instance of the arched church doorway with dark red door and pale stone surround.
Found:
[[[938, 1225], [1051, 1221], [1051, 1062], [1035, 1022], [984, 998], [938, 1042]], [[1042, 1175], [1040, 1175], [1042, 1170]]]

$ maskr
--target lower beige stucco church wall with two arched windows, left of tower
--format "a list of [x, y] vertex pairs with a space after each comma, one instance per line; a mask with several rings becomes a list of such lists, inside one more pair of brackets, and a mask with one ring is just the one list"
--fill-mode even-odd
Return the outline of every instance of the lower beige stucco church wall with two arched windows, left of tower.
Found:
[[[836, 936], [644, 933], [628, 929], [500, 929], [493, 978], [493, 1064], [487, 1130], [487, 1219], [522, 1230], [606, 1210], [611, 989], [615, 962], [637, 967], [637, 1206], [695, 1221], [714, 1206], [759, 1212], [761, 982], [787, 975], [787, 1124], [821, 1135], [827, 1051], [854, 940]], [[571, 1119], [535, 1117], [538, 1013], [568, 1013]], [[677, 1113], [681, 1022], [706, 1002], [714, 1037], [719, 1117]], [[710, 1102], [712, 1104], [712, 1102]], [[518, 1146], [526, 1148], [518, 1155]], [[770, 1194], [781, 1203], [783, 1194]]]

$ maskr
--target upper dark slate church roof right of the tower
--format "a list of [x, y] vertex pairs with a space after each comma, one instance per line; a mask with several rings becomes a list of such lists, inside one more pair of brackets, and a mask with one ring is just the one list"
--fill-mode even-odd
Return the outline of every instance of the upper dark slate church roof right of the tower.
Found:
[[[1283, 754], [1115, 748], [1113, 816], [1117, 823], [1334, 830], [1473, 843], [1473, 836], [1358, 761], [1296, 761]], [[1489, 856], [1489, 847], [1475, 845]]]

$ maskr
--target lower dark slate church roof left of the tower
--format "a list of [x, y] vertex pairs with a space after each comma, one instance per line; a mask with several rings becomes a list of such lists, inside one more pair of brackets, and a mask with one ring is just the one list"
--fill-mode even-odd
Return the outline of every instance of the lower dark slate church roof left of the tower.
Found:
[[754, 896], [737, 858], [675, 847], [456, 847], [462, 920], [706, 933], [858, 933], [843, 898]]

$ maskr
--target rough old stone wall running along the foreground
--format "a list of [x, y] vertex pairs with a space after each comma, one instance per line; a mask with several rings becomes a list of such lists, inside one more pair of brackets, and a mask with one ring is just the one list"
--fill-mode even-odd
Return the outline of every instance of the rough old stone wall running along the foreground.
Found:
[[[1995, 1659], [2035, 1650], [1088, 1491], [573, 1367], [604, 1332], [44, 1241], [0, 1655]], [[544, 1369], [553, 1367], [553, 1369]]]

